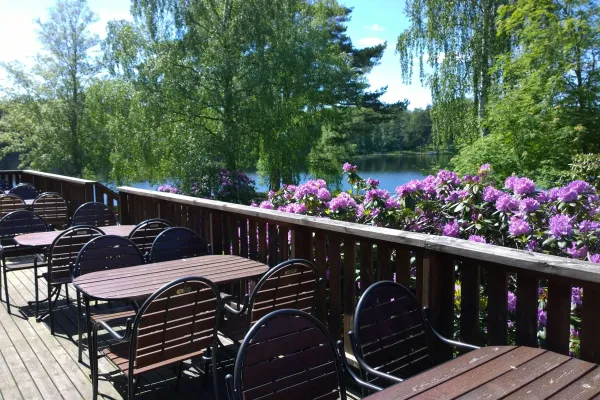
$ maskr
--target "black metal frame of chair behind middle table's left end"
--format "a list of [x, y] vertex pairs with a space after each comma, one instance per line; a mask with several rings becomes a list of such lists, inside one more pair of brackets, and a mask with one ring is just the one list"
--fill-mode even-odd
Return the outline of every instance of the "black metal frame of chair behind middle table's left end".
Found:
[[[129, 265], [121, 265], [117, 268], [127, 268], [130, 266], [135, 266], [135, 265], [141, 265], [144, 264], [144, 256], [142, 255], [142, 253], [140, 252], [140, 250], [138, 249], [138, 247], [135, 245], [135, 243], [133, 243], [130, 239], [122, 237], [122, 236], [118, 236], [118, 235], [104, 235], [104, 236], [98, 236], [92, 240], [90, 240], [88, 243], [86, 243], [85, 246], [82, 247], [81, 251], [79, 252], [79, 254], [77, 255], [77, 259], [75, 261], [75, 265], [73, 268], [73, 277], [78, 277], [80, 275], [83, 275], [81, 273], [81, 263], [82, 263], [82, 258], [85, 256], [86, 252], [90, 250], [90, 248], [93, 248], [93, 246], [97, 245], [97, 243], [99, 241], [109, 241], [109, 240], [113, 240], [113, 241], [117, 241], [117, 242], [121, 242], [124, 245], [127, 245], [133, 249], [135, 249], [134, 254], [137, 254], [139, 256], [139, 263], [134, 263], [134, 264], [129, 264]], [[123, 247], [118, 247], [118, 248], [123, 248]], [[118, 253], [115, 252], [114, 255], [117, 255]], [[112, 260], [117, 260], [117, 258], [111, 258]], [[94, 261], [97, 261], [97, 259], [92, 259]], [[107, 264], [103, 264], [103, 268], [102, 269], [98, 269], [99, 271], [106, 269], [106, 268], [110, 268], [111, 266], [107, 263]], [[95, 272], [95, 271], [85, 271], [85, 273], [90, 273], [90, 272]], [[81, 328], [81, 320], [83, 317], [83, 312], [81, 309], [81, 300], [83, 298], [83, 302], [84, 302], [84, 307], [85, 307], [85, 320], [86, 320], [86, 329], [87, 329], [87, 339], [88, 339], [88, 350], [90, 353], [90, 360], [92, 359], [94, 353], [92, 353], [92, 348], [89, 344], [90, 342], [90, 338], [92, 335], [92, 325], [91, 325], [91, 309], [90, 309], [90, 299], [83, 295], [82, 293], [77, 290], [77, 332], [79, 335], [79, 362], [82, 361], [83, 357], [83, 332], [82, 332], [82, 328]], [[132, 304], [132, 306], [135, 308], [135, 304]]]

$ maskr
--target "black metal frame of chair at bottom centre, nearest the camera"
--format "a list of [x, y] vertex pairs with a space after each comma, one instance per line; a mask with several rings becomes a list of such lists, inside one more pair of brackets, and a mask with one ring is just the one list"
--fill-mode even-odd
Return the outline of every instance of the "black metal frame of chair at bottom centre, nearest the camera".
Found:
[[[277, 318], [281, 318], [281, 317], [299, 317], [302, 319], [305, 319], [307, 322], [307, 326], [303, 326], [303, 328], [306, 329], [302, 329], [302, 330], [298, 330], [296, 324], [290, 324], [289, 325], [289, 332], [278, 332], [275, 334], [271, 334], [271, 331], [269, 331], [269, 323], [273, 320], [276, 320]], [[301, 323], [302, 324], [302, 323]], [[301, 325], [299, 324], [299, 325]], [[295, 326], [294, 326], [295, 325]], [[271, 328], [272, 330], [276, 330], [278, 327], [275, 326], [275, 328]], [[341, 356], [341, 354], [344, 354], [344, 346], [341, 340], [339, 340], [337, 342], [337, 344], [334, 342], [333, 338], [331, 337], [331, 334], [329, 333], [329, 331], [327, 330], [327, 328], [321, 323], [321, 321], [319, 321], [317, 318], [315, 318], [314, 316], [304, 312], [304, 311], [300, 311], [300, 310], [296, 310], [296, 309], [281, 309], [281, 310], [277, 310], [277, 311], [273, 311], [267, 315], [265, 315], [264, 317], [262, 317], [258, 322], [256, 322], [256, 324], [254, 324], [254, 326], [250, 329], [250, 331], [248, 331], [248, 334], [246, 335], [246, 337], [244, 338], [244, 341], [242, 342], [240, 349], [238, 351], [237, 357], [235, 359], [235, 364], [234, 364], [234, 371], [233, 371], [233, 375], [228, 374], [225, 377], [225, 381], [226, 381], [226, 386], [227, 386], [227, 394], [229, 397], [229, 400], [242, 400], [244, 399], [246, 396], [244, 396], [244, 382], [243, 382], [243, 374], [244, 374], [244, 364], [246, 362], [246, 356], [248, 354], [248, 349], [249, 346], [251, 344], [255, 344], [255, 343], [268, 343], [268, 341], [272, 341], [273, 343], [273, 347], [275, 346], [280, 346], [281, 343], [278, 343], [277, 339], [278, 338], [282, 338], [282, 337], [286, 337], [288, 335], [297, 333], [297, 334], [301, 334], [302, 331], [309, 331], [315, 328], [319, 331], [319, 333], [322, 335], [322, 337], [320, 338], [321, 340], [325, 341], [325, 343], [320, 344], [320, 346], [329, 346], [329, 350], [331, 352], [331, 361], [333, 361], [334, 363], [334, 367], [335, 367], [335, 373], [337, 376], [337, 387], [338, 387], [338, 391], [339, 391], [339, 396], [341, 400], [346, 400], [347, 396], [346, 396], [346, 387], [344, 384], [344, 375], [343, 373], [346, 372], [350, 375], [350, 377], [360, 386], [364, 386], [367, 387], [371, 390], [380, 390], [379, 387], [372, 385], [368, 382], [364, 382], [362, 381], [360, 378], [358, 378], [353, 372], [352, 370], [349, 368], [347, 360], [345, 359], [345, 356]], [[268, 332], [268, 333], [265, 333]], [[258, 337], [259, 334], [263, 334], [263, 338], [264, 336], [268, 337], [268, 341], [266, 339], [263, 339], [264, 341], [260, 341], [258, 339], [256, 339]], [[275, 336], [275, 335], [279, 335], [279, 336]], [[301, 340], [299, 338], [294, 338], [292, 339], [288, 339], [291, 340], [292, 343], [294, 342], [294, 340]], [[319, 340], [318, 342], [321, 343], [321, 340]], [[315, 338], [315, 335], [312, 335], [312, 340], [309, 340], [308, 342], [312, 342], [313, 345], [315, 344], [315, 342], [317, 341], [317, 338]], [[306, 345], [304, 345], [306, 346]], [[283, 347], [287, 347], [283, 346]], [[263, 348], [264, 350], [264, 348]], [[291, 349], [291, 351], [295, 351], [296, 349]], [[282, 352], [285, 352], [285, 349], [281, 350]], [[341, 354], [340, 354], [341, 351]], [[275, 354], [275, 353], [273, 353]], [[273, 357], [273, 360], [276, 359], [285, 359], [286, 355], [285, 354], [279, 354]], [[293, 356], [293, 353], [288, 354], [289, 356]], [[264, 364], [267, 364], [268, 362], [264, 362]], [[257, 365], [261, 365], [261, 364], [257, 364]], [[255, 367], [255, 366], [254, 366]], [[298, 367], [298, 371], [287, 371], [287, 373], [289, 374], [288, 376], [293, 376], [297, 373], [300, 372], [304, 372], [305, 371], [306, 366], [299, 366]], [[309, 368], [314, 368], [314, 366], [309, 366]], [[310, 382], [310, 380], [304, 381], [303, 383], [308, 383]], [[295, 384], [294, 386], [295, 390], [299, 390], [299, 388], [301, 387], [301, 384]], [[319, 394], [319, 395], [322, 395]], [[266, 398], [266, 397], [265, 397]]]

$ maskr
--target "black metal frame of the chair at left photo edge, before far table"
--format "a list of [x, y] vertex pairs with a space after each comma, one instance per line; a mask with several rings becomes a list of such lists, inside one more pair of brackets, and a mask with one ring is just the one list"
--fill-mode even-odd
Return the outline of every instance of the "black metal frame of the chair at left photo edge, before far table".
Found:
[[[30, 221], [36, 221], [35, 228], [32, 228], [30, 225], [26, 226], [12, 226], [12, 227], [3, 227], [3, 225], [12, 221], [14, 218], [19, 217], [27, 217]], [[8, 230], [9, 232], [5, 232]], [[46, 265], [46, 263], [38, 264], [38, 255], [44, 252], [44, 249], [40, 248], [31, 248], [31, 247], [21, 247], [14, 242], [14, 237], [21, 234], [26, 233], [35, 233], [35, 232], [46, 232], [48, 231], [48, 224], [44, 221], [42, 217], [37, 214], [32, 213], [27, 210], [18, 210], [13, 211], [11, 213], [6, 214], [2, 219], [0, 219], [0, 252], [2, 254], [2, 275], [4, 279], [4, 297], [6, 301], [6, 310], [10, 314], [10, 298], [8, 295], [8, 272], [13, 271], [21, 271], [25, 269], [34, 269], [36, 270], [39, 266]], [[10, 241], [11, 243], [7, 244], [6, 242]], [[6, 264], [7, 258], [19, 257], [24, 255], [33, 255], [33, 264], [29, 265], [21, 265], [21, 266], [13, 266], [8, 267]]]

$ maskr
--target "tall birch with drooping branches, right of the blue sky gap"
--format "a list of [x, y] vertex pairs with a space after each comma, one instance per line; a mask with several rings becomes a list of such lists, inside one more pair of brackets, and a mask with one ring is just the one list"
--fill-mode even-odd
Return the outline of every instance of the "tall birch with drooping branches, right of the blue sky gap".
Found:
[[[407, 0], [410, 27], [398, 37], [402, 77], [412, 79], [414, 60], [431, 87], [433, 132], [438, 142], [468, 144], [485, 134], [494, 57], [509, 41], [495, 17], [508, 0]], [[472, 100], [471, 100], [472, 99]]]

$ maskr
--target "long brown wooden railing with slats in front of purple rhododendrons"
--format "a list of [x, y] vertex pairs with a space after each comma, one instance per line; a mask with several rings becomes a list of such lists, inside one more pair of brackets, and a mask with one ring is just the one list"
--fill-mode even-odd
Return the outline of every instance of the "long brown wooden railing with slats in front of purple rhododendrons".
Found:
[[[275, 265], [290, 257], [313, 260], [327, 287], [318, 317], [334, 337], [352, 329], [357, 297], [372, 282], [411, 285], [432, 310], [436, 328], [479, 345], [508, 341], [507, 289], [516, 279], [516, 343], [537, 346], [538, 288], [548, 287], [546, 347], [567, 354], [571, 288], [583, 287], [581, 357], [600, 362], [600, 265], [441, 236], [295, 215], [156, 191], [120, 187], [121, 222], [165, 218], [203, 234], [215, 253], [236, 254]], [[411, 279], [416, 268], [416, 279]], [[357, 271], [360, 287], [356, 283]], [[455, 281], [461, 283], [455, 315]], [[483, 285], [483, 283], [486, 283]], [[486, 293], [482, 288], [487, 288]], [[480, 298], [487, 309], [480, 310]], [[483, 322], [482, 322], [483, 321]], [[480, 326], [480, 324], [485, 326]], [[482, 329], [487, 334], [482, 335]], [[482, 337], [485, 336], [485, 337]], [[348, 340], [345, 340], [349, 350]], [[441, 359], [451, 354], [439, 349]]]

